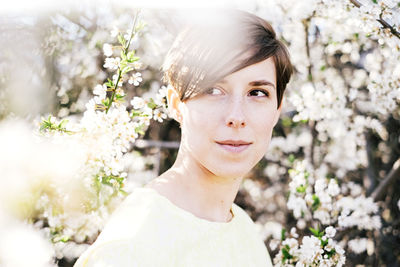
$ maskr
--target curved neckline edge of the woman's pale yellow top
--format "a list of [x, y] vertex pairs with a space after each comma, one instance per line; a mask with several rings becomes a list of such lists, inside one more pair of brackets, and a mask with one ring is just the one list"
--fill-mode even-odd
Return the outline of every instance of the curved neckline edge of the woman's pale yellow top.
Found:
[[157, 196], [159, 199], [164, 200], [165, 203], [167, 203], [170, 207], [172, 207], [174, 210], [176, 210], [177, 212], [179, 212], [180, 214], [187, 216], [189, 218], [191, 218], [192, 220], [197, 221], [198, 223], [201, 224], [208, 224], [208, 225], [215, 225], [215, 226], [229, 226], [232, 225], [234, 223], [236, 223], [236, 221], [238, 220], [238, 212], [237, 212], [237, 207], [236, 204], [233, 203], [232, 207], [231, 207], [231, 211], [232, 211], [232, 218], [230, 221], [228, 222], [216, 222], [216, 221], [210, 221], [204, 218], [200, 218], [197, 217], [196, 215], [194, 215], [193, 213], [191, 213], [190, 211], [187, 211], [179, 206], [177, 206], [176, 204], [174, 204], [171, 200], [169, 200], [167, 197], [165, 197], [164, 195], [161, 195], [157, 190], [151, 188], [151, 187], [138, 187], [135, 188], [135, 190], [139, 190], [139, 191], [143, 191], [143, 192], [149, 192], [154, 194], [155, 196]]

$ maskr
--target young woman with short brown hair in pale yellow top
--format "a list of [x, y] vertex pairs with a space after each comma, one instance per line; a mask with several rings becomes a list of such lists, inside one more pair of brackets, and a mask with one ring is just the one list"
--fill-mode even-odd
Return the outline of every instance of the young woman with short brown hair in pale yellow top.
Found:
[[272, 266], [233, 201], [280, 115], [292, 73], [284, 45], [255, 15], [207, 12], [178, 35], [164, 70], [182, 130], [176, 162], [127, 197], [75, 266]]

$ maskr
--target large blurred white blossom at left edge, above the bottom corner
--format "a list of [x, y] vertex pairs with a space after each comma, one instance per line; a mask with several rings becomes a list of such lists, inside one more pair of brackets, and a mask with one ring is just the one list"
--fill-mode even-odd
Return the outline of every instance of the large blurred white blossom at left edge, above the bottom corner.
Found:
[[[35, 134], [29, 124], [5, 120], [0, 124], [0, 205], [17, 217], [30, 219], [35, 205], [47, 195], [53, 205], [80, 209], [81, 182], [77, 179], [84, 154], [79, 147]], [[20, 196], [15, 198], [15, 196]]]

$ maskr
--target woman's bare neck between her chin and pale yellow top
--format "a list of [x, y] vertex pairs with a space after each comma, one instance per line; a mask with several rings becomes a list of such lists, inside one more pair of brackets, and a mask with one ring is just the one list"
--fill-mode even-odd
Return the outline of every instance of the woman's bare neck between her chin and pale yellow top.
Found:
[[199, 218], [228, 222], [241, 181], [242, 178], [215, 176], [190, 155], [178, 153], [175, 164], [147, 187]]

